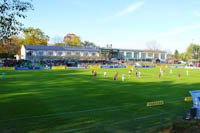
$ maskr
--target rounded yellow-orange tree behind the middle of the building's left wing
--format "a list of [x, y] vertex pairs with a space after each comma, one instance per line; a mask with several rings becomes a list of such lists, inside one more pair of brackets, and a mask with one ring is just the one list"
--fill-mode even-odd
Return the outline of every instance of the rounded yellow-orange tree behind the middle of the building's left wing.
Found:
[[80, 38], [75, 34], [67, 34], [64, 37], [64, 43], [67, 46], [81, 46]]

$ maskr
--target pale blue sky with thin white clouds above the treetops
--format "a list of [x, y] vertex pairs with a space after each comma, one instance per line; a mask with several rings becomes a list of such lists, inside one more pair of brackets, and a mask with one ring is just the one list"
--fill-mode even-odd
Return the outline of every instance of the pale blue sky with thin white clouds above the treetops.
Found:
[[42, 29], [52, 43], [68, 33], [99, 46], [184, 52], [200, 42], [200, 0], [33, 0], [26, 27]]

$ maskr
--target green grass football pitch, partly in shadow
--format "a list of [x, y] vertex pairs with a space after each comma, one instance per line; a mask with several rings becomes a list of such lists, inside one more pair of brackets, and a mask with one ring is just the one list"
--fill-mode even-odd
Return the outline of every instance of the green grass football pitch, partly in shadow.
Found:
[[[128, 69], [99, 69], [96, 78], [91, 70], [5, 70], [6, 79], [0, 80], [0, 132], [46, 133], [96, 124], [100, 132], [128, 132], [126, 120], [192, 107], [183, 99], [190, 90], [200, 89], [200, 70], [189, 70], [187, 77], [185, 69], [173, 69], [173, 74], [164, 69], [161, 79], [160, 69], [139, 70], [141, 78], [135, 77], [135, 71], [129, 78]], [[115, 72], [119, 72], [117, 81], [113, 81]], [[158, 100], [165, 104], [146, 107], [146, 102]], [[134, 124], [144, 128], [159, 119], [148, 120]], [[124, 123], [111, 126], [117, 122]], [[92, 131], [95, 128], [76, 132]]]

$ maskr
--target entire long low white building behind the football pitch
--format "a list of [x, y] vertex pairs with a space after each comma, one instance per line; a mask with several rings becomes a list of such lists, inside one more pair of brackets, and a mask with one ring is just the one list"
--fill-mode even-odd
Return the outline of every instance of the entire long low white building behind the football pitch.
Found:
[[165, 61], [165, 51], [148, 51], [135, 49], [113, 49], [95, 47], [65, 47], [65, 46], [32, 46], [23, 45], [21, 59], [37, 62], [49, 59], [126, 59], [126, 60], [153, 60]]

